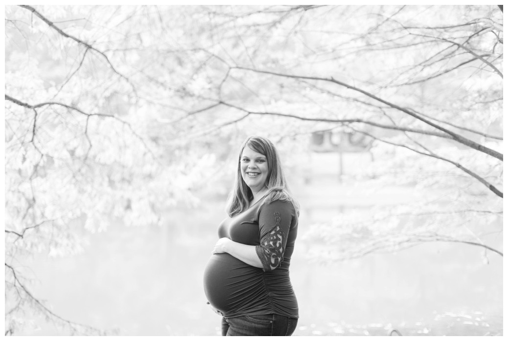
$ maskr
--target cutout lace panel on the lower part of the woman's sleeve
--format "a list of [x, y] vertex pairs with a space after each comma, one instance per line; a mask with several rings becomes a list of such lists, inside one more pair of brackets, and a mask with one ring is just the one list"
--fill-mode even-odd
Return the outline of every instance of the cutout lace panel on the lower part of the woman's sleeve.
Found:
[[275, 211], [273, 215], [275, 226], [263, 236], [261, 245], [256, 246], [256, 253], [265, 271], [278, 268], [284, 260], [285, 235], [280, 228], [280, 214]]

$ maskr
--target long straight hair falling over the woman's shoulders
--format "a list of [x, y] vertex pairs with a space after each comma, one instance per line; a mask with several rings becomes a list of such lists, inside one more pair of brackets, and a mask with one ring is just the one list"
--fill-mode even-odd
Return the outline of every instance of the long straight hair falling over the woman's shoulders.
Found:
[[299, 204], [289, 191], [275, 146], [270, 140], [255, 135], [247, 138], [240, 147], [235, 183], [226, 206], [228, 215], [233, 217], [247, 210], [249, 208], [249, 202], [253, 198], [252, 191], [245, 181], [243, 181], [242, 171], [240, 169], [240, 158], [242, 157], [245, 146], [266, 156], [268, 175], [266, 177], [265, 186], [268, 188], [268, 193], [265, 195], [264, 202], [270, 203], [275, 200], [291, 201], [298, 214], [300, 209]]

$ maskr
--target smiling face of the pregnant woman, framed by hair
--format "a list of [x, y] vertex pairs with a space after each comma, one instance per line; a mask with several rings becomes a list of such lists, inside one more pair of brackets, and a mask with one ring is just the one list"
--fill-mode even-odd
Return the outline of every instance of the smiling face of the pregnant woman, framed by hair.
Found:
[[268, 161], [266, 156], [245, 146], [240, 157], [242, 179], [252, 192], [259, 192], [268, 177]]

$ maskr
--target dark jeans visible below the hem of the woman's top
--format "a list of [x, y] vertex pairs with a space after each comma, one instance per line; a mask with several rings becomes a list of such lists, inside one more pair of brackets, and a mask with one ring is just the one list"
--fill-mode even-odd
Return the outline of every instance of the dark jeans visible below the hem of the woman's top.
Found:
[[298, 319], [277, 314], [223, 317], [223, 336], [290, 336]]

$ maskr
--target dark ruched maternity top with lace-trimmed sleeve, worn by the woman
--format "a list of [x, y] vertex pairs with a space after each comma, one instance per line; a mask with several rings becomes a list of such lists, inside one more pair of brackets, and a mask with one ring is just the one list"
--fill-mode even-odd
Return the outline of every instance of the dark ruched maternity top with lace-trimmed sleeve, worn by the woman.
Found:
[[210, 304], [226, 318], [278, 314], [298, 318], [298, 302], [289, 276], [298, 214], [290, 201], [256, 202], [219, 225], [219, 238], [256, 246], [263, 268], [228, 253], [214, 254], [205, 267]]

